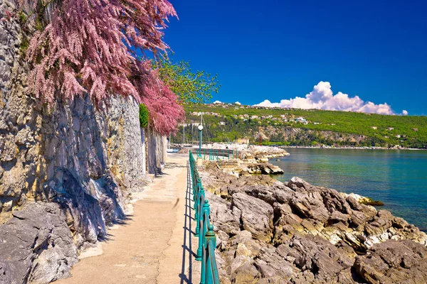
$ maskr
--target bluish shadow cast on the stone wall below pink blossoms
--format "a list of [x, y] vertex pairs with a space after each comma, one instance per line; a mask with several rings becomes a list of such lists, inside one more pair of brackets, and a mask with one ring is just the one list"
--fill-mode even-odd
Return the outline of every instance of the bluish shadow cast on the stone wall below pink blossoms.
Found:
[[132, 216], [123, 211], [124, 192], [107, 167], [107, 114], [87, 94], [73, 101], [58, 98], [51, 112], [43, 106], [37, 111], [44, 162], [34, 199], [58, 204], [73, 219], [71, 229], [82, 240], [77, 246], [108, 240], [106, 225], [128, 224]]

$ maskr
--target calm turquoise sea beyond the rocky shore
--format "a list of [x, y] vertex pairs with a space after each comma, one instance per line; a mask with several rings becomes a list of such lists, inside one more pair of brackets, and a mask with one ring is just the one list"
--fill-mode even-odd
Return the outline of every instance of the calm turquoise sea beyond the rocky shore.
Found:
[[427, 151], [287, 148], [272, 159], [287, 181], [297, 176], [335, 190], [381, 200], [387, 209], [427, 231]]

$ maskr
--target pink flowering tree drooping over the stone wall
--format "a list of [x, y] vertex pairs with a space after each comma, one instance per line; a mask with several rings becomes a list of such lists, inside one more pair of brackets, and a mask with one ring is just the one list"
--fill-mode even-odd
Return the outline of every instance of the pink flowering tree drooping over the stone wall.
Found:
[[[43, 13], [44, 3], [34, 0], [33, 10]], [[61, 0], [50, 5], [49, 21], [34, 33], [27, 50], [29, 91], [48, 104], [59, 95], [73, 99], [88, 93], [97, 107], [112, 94], [131, 96], [146, 104], [155, 130], [174, 132], [184, 111], [151, 62], [136, 56], [136, 50], [154, 55], [167, 50], [162, 36], [167, 18], [176, 16], [172, 4]]]

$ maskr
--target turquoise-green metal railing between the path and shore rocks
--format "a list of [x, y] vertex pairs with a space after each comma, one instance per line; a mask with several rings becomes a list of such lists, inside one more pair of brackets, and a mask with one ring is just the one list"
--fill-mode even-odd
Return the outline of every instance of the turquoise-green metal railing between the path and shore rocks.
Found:
[[205, 192], [201, 185], [196, 160], [189, 152], [191, 188], [193, 190], [194, 219], [196, 234], [199, 237], [196, 261], [201, 261], [200, 284], [219, 284], [218, 268], [215, 260], [216, 235], [214, 225], [209, 219], [209, 202], [205, 199]]

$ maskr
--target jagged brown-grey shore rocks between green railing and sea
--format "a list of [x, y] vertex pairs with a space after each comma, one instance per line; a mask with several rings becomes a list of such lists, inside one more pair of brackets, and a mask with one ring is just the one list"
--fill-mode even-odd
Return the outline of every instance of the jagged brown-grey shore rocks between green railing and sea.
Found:
[[223, 283], [426, 283], [427, 235], [300, 178], [201, 170]]

